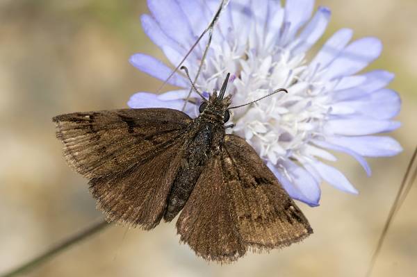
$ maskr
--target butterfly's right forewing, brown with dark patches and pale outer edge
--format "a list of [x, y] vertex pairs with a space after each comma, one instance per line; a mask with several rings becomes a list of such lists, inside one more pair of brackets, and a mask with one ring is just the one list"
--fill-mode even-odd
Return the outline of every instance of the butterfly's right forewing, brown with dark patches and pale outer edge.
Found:
[[231, 215], [245, 246], [270, 250], [313, 233], [309, 222], [277, 178], [241, 137], [224, 137], [223, 168]]

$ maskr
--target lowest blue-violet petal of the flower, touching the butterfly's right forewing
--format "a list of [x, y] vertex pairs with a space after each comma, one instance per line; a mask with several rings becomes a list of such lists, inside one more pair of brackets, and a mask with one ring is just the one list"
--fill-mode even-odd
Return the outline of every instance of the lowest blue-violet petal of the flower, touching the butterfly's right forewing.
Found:
[[286, 192], [290, 194], [293, 199], [300, 200], [311, 207], [318, 205], [320, 201], [320, 187], [316, 180], [302, 167], [295, 165], [295, 163], [286, 161], [284, 167], [292, 178], [291, 181], [285, 177], [284, 174], [277, 169], [275, 165], [268, 162], [268, 167], [277, 176], [279, 183], [284, 187]]

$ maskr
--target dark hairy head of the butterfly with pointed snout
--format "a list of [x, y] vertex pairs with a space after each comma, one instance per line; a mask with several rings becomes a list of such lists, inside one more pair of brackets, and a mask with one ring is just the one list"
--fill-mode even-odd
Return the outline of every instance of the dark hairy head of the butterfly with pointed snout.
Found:
[[222, 121], [224, 123], [229, 121], [230, 113], [228, 108], [231, 103], [231, 96], [228, 95], [224, 97], [224, 92], [226, 92], [229, 77], [230, 74], [227, 74], [219, 94], [218, 92], [213, 91], [213, 94], [210, 95], [208, 100], [204, 101], [202, 105], [199, 107], [199, 112], [202, 115], [208, 115], [212, 119]]

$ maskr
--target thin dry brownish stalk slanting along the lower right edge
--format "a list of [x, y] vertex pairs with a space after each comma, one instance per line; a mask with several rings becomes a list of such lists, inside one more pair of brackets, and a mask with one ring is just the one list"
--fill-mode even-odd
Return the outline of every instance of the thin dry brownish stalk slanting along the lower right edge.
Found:
[[402, 203], [404, 203], [404, 200], [407, 197], [407, 194], [409, 194], [409, 191], [411, 190], [413, 183], [416, 181], [417, 168], [414, 170], [414, 173], [411, 176], [411, 178], [409, 178], [409, 175], [411, 174], [411, 169], [414, 167], [414, 164], [416, 163], [416, 158], [417, 158], [417, 147], [414, 150], [414, 154], [409, 162], [407, 171], [404, 174], [404, 178], [402, 178], [402, 182], [401, 182], [400, 188], [398, 189], [397, 196], [395, 196], [395, 201], [393, 205], [391, 206], [391, 210], [389, 211], [388, 218], [386, 219], [384, 228], [382, 229], [382, 233], [379, 236], [377, 247], [372, 255], [371, 262], [368, 267], [368, 271], [366, 272], [366, 277], [370, 277], [372, 275], [378, 255], [382, 249], [382, 244], [384, 244], [386, 233], [388, 233], [388, 230], [389, 230], [389, 227], [391, 226], [393, 218], [397, 214], [398, 210], [400, 210]]

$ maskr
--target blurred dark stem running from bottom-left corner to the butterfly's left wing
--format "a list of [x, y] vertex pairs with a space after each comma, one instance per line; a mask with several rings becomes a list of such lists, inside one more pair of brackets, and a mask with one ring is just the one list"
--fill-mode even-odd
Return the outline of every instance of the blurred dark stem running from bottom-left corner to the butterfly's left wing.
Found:
[[2, 274], [0, 277], [19, 276], [20, 274], [24, 274], [25, 272], [30, 271], [31, 269], [35, 269], [35, 267], [42, 265], [44, 262], [47, 262], [47, 260], [49, 260], [50, 258], [53, 258], [55, 255], [58, 255], [60, 252], [69, 249], [70, 246], [72, 246], [73, 244], [81, 242], [85, 240], [87, 237], [90, 237], [91, 235], [95, 235], [100, 230], [103, 230], [104, 228], [110, 225], [111, 224], [108, 224], [108, 222], [105, 220], [98, 221], [97, 223], [92, 224], [92, 226], [85, 228], [85, 230], [81, 230], [81, 232], [76, 233], [72, 237], [65, 239], [63, 242], [60, 242], [55, 247], [38, 255], [32, 260], [25, 262], [23, 265], [19, 265], [18, 267], [7, 272], [6, 274]]

